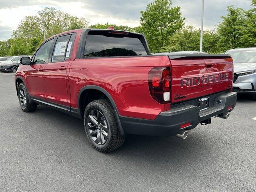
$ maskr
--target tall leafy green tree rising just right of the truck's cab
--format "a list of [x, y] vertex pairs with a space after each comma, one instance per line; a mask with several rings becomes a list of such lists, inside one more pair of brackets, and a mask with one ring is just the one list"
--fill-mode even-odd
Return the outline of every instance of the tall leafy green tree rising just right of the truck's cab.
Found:
[[152, 52], [158, 52], [168, 45], [169, 37], [184, 26], [180, 7], [172, 7], [172, 0], [155, 0], [141, 11], [138, 32], [145, 34]]

